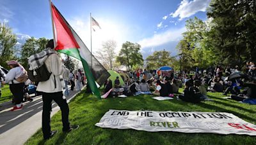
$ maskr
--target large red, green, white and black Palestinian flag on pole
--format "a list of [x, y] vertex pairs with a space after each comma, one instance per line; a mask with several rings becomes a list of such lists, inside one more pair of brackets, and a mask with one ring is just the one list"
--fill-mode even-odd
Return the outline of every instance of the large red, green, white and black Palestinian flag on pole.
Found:
[[51, 9], [56, 41], [55, 50], [81, 60], [88, 85], [92, 92], [97, 95], [97, 97], [100, 97], [95, 81], [101, 86], [106, 79], [108, 79], [110, 74], [100, 62], [92, 56], [92, 53], [88, 50], [86, 45], [84, 45], [83, 41], [52, 3]]

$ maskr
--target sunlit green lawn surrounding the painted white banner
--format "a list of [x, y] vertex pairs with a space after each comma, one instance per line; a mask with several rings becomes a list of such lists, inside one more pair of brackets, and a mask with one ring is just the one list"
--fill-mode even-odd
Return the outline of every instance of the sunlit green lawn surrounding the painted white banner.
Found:
[[[180, 88], [180, 92], [182, 90]], [[95, 126], [95, 123], [99, 122], [100, 118], [109, 109], [227, 112], [256, 124], [255, 105], [222, 99], [221, 97], [224, 96], [221, 93], [208, 93], [208, 96], [214, 101], [191, 104], [176, 99], [157, 101], [149, 95], [100, 100], [92, 95], [80, 93], [69, 104], [70, 122], [80, 125], [77, 130], [73, 130], [68, 134], [61, 131], [61, 112], [59, 111], [52, 117], [51, 122], [52, 130], [58, 130], [58, 133], [45, 142], [40, 129], [26, 144], [255, 144], [255, 137], [249, 135], [145, 132]]]

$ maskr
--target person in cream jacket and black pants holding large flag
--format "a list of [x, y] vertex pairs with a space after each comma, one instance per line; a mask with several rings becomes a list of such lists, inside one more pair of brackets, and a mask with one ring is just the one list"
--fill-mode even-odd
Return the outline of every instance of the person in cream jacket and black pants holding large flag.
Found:
[[[39, 81], [38, 86], [36, 88], [37, 91], [42, 92], [42, 132], [45, 140], [49, 139], [50, 137], [57, 133], [57, 131], [51, 130], [50, 125], [52, 100], [54, 100], [56, 104], [60, 106], [63, 132], [70, 132], [72, 129], [76, 129], [79, 127], [78, 125], [70, 125], [68, 120], [69, 107], [67, 104], [67, 100], [63, 96], [62, 92], [63, 89], [65, 89], [65, 83], [61, 76], [63, 72], [63, 67], [58, 53], [54, 51], [53, 39], [48, 41], [46, 46], [47, 49], [29, 57], [29, 65], [32, 67], [29, 68], [29, 70], [35, 69], [36, 71], [36, 68], [45, 66], [45, 69], [47, 69], [45, 71], [48, 71], [49, 74], [51, 74], [47, 80]], [[38, 58], [36, 59], [36, 57]], [[36, 62], [34, 62], [33, 60], [36, 60]]]

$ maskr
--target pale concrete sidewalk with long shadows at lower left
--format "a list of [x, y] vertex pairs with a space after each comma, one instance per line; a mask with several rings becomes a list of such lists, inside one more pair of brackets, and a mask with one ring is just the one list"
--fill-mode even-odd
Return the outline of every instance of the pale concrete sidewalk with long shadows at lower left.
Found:
[[[79, 93], [70, 92], [68, 102]], [[42, 127], [42, 96], [34, 97], [33, 102], [24, 103], [24, 108], [18, 111], [10, 111], [12, 102], [0, 104], [0, 144], [24, 144], [31, 135]], [[51, 116], [60, 107], [52, 101]]]

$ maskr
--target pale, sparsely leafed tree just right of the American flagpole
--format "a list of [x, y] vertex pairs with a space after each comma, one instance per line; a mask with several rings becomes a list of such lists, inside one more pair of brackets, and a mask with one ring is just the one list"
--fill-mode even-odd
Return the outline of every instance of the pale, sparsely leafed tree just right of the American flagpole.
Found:
[[116, 48], [116, 41], [108, 40], [102, 44], [102, 50], [96, 52], [97, 59], [100, 60], [102, 66], [106, 69], [113, 69], [113, 64], [115, 61], [115, 48]]

